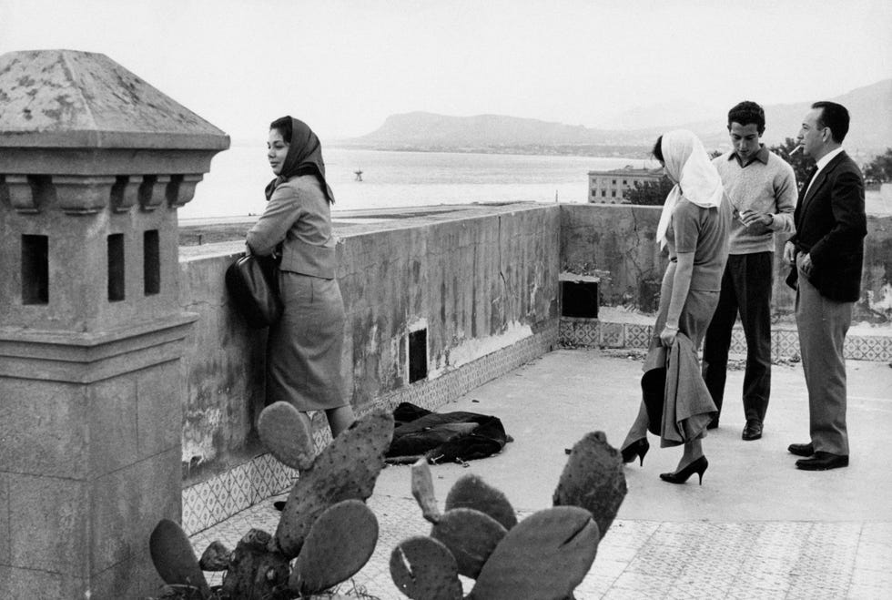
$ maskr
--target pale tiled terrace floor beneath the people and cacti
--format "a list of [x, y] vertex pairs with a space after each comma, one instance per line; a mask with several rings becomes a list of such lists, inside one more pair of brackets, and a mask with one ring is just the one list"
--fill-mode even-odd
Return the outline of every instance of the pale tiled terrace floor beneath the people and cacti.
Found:
[[[743, 442], [742, 371], [729, 374], [722, 427], [704, 441], [710, 459], [703, 486], [670, 485], [678, 449], [651, 438], [644, 467], [625, 469], [629, 493], [599, 546], [592, 571], [576, 588], [595, 598], [888, 598], [892, 597], [892, 369], [849, 361], [851, 466], [826, 473], [796, 470], [790, 442], [807, 441], [802, 371], [775, 365], [765, 436]], [[514, 438], [495, 457], [432, 467], [441, 502], [451, 483], [478, 473], [501, 489], [522, 516], [551, 505], [570, 447], [602, 430], [622, 442], [637, 410], [639, 361], [603, 351], [553, 351], [486, 383], [446, 411], [494, 414]], [[284, 497], [284, 496], [282, 496]], [[378, 548], [352, 584], [389, 600], [404, 596], [388, 559], [400, 540], [427, 534], [411, 498], [409, 469], [390, 466], [370, 507], [380, 522]], [[275, 531], [279, 513], [258, 504], [192, 538], [200, 554], [220, 539], [230, 547], [251, 527]], [[470, 591], [471, 582], [465, 582]]]

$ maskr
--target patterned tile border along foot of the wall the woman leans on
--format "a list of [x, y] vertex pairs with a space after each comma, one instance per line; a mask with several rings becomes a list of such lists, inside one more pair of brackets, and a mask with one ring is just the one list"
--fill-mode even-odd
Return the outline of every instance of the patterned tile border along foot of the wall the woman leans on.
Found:
[[[436, 410], [466, 392], [552, 351], [558, 343], [558, 320], [550, 321], [541, 331], [507, 348], [494, 351], [476, 361], [443, 373], [430, 381], [381, 396], [375, 408], [392, 410], [400, 402], [411, 402]], [[313, 415], [313, 442], [317, 452], [331, 441], [325, 415]], [[233, 514], [270, 496], [284, 493], [298, 472], [279, 463], [269, 454], [261, 454], [225, 473], [183, 489], [183, 529], [188, 535], [226, 521]]]

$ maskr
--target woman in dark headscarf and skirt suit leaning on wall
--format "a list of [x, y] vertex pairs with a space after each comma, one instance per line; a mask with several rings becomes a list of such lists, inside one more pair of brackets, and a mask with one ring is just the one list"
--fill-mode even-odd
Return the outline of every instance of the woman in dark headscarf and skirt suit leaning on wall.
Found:
[[353, 422], [344, 396], [340, 358], [344, 303], [335, 279], [331, 233], [334, 194], [325, 181], [319, 137], [302, 121], [281, 117], [269, 126], [267, 207], [248, 231], [254, 254], [279, 256], [281, 319], [269, 328], [267, 403], [290, 402], [303, 415], [325, 411], [336, 437]]

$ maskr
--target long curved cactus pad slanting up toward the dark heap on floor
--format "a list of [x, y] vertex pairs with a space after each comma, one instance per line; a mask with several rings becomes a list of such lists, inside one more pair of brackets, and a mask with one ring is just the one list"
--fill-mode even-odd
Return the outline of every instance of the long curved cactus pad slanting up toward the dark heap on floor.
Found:
[[393, 416], [371, 412], [341, 432], [300, 473], [276, 530], [275, 544], [282, 554], [297, 556], [313, 522], [332, 504], [369, 498], [392, 436]]

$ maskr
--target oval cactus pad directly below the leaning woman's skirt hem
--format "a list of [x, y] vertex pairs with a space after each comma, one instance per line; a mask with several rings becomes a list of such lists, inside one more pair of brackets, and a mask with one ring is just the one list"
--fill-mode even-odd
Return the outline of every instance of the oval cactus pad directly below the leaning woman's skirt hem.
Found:
[[306, 471], [313, 464], [313, 435], [307, 418], [288, 402], [274, 402], [260, 412], [260, 442], [279, 463]]

